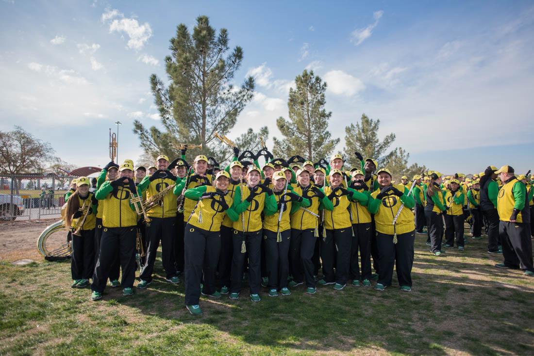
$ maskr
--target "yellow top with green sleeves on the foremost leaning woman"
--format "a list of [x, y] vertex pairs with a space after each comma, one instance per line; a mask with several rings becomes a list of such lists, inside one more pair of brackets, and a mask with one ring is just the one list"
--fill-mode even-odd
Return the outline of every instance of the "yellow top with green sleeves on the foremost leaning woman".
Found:
[[[213, 198], [201, 199], [204, 193], [216, 191], [217, 189], [215, 187], [209, 185], [198, 186], [185, 191], [184, 195], [187, 199], [196, 201], [191, 213], [191, 218], [188, 221], [189, 225], [196, 226], [205, 231], [220, 231], [221, 224], [226, 215], [229, 215], [232, 220], [237, 218], [238, 214], [232, 209], [233, 199], [228, 194], [225, 196], [218, 195]], [[226, 201], [226, 204], [230, 207], [229, 209], [224, 210], [221, 205], [217, 203], [217, 201], [220, 201], [221, 199]], [[200, 215], [202, 215], [202, 218], [200, 218]]]

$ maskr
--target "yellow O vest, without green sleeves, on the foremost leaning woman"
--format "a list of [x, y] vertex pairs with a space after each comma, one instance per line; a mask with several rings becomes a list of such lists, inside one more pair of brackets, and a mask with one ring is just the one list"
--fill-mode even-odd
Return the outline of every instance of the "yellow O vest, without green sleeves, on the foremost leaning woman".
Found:
[[[211, 185], [206, 186], [206, 193], [215, 192], [217, 189]], [[188, 192], [186, 191], [187, 195]], [[221, 207], [217, 201], [224, 199], [226, 204], [231, 207], [233, 199], [231, 196], [226, 194], [225, 196], [215, 196], [213, 198], [201, 199], [195, 202], [195, 207], [188, 216], [189, 224], [201, 228], [206, 231], [221, 231], [221, 224], [224, 217], [226, 216], [226, 211]], [[202, 219], [200, 214], [202, 211]]]

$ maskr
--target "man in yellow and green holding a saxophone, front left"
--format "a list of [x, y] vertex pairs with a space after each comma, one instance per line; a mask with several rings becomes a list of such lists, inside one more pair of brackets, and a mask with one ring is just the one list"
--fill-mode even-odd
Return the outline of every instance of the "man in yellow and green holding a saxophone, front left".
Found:
[[[146, 191], [146, 200], [150, 201], [153, 196], [159, 195], [164, 189], [182, 181], [182, 178], [173, 175], [167, 168], [169, 158], [160, 155], [156, 159], [158, 170], [151, 176], [146, 176], [138, 185], [140, 193]], [[137, 287], [144, 289], [152, 283], [152, 273], [154, 271], [154, 262], [161, 241], [161, 261], [166, 272], [165, 280], [176, 284], [178, 272], [174, 265], [174, 240], [176, 228], [176, 195], [173, 191], [161, 197], [158, 204], [155, 204], [146, 213], [150, 217], [150, 225], [146, 226], [146, 239], [148, 246], [146, 249], [146, 263], [141, 268], [139, 274], [139, 283]]]

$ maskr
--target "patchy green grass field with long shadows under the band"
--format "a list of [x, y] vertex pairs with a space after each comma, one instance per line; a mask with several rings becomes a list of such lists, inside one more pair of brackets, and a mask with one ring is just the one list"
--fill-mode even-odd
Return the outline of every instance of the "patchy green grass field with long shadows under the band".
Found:
[[252, 303], [201, 298], [184, 308], [184, 286], [154, 283], [122, 297], [70, 288], [70, 263], [0, 263], [0, 354], [534, 354], [534, 279], [493, 267], [485, 240], [435, 257], [418, 235], [412, 292], [394, 285], [331, 286]]

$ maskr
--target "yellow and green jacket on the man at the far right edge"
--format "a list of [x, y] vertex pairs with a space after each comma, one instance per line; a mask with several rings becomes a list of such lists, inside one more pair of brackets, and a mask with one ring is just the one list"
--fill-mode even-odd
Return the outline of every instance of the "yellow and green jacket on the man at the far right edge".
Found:
[[515, 220], [517, 223], [528, 223], [523, 221], [523, 209], [527, 199], [527, 188], [525, 185], [517, 180], [516, 177], [509, 178], [499, 191], [497, 197], [497, 211], [499, 213], [499, 220], [510, 221], [514, 209], [519, 210]]

